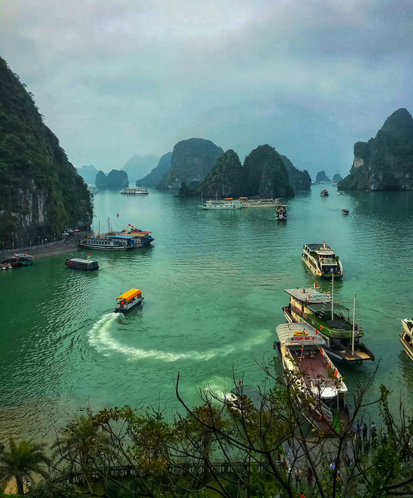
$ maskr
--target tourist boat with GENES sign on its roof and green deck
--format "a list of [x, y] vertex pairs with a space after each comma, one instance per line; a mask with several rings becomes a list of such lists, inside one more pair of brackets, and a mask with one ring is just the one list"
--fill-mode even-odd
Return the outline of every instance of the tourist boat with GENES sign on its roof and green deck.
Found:
[[349, 308], [334, 301], [334, 296], [323, 292], [316, 283], [314, 287], [286, 289], [285, 292], [290, 296], [288, 306], [282, 308], [285, 318], [290, 323], [305, 323], [314, 327], [325, 340], [324, 349], [332, 358], [349, 365], [374, 361], [373, 353], [360, 342], [364, 332], [355, 322], [356, 294], [351, 318]]

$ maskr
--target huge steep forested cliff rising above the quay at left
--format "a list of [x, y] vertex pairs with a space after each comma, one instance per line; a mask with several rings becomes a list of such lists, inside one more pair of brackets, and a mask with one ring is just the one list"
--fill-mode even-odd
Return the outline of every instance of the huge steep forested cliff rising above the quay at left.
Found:
[[[0, 58], [0, 240], [4, 247], [85, 228], [92, 204], [83, 178], [43, 123], [16, 74]], [[17, 246], [18, 244], [18, 246]]]

